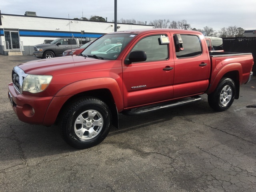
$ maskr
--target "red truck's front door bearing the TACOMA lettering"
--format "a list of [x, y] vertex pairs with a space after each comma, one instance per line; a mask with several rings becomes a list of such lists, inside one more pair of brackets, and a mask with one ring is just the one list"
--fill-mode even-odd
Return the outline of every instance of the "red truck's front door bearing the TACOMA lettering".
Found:
[[144, 35], [132, 45], [130, 52], [145, 51], [146, 61], [131, 64], [123, 61], [124, 108], [172, 99], [174, 61], [170, 43], [162, 44], [161, 36], [168, 34]]

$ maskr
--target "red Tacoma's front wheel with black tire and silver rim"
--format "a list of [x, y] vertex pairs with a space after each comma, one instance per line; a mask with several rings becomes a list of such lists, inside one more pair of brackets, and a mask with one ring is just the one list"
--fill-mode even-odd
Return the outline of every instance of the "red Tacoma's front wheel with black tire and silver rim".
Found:
[[74, 148], [90, 148], [106, 138], [111, 120], [111, 112], [103, 101], [97, 98], [78, 99], [66, 108], [62, 116], [61, 135]]

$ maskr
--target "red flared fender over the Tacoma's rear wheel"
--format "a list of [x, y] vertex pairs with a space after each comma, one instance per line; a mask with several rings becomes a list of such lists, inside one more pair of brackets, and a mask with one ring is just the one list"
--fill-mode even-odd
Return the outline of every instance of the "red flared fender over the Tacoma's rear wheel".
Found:
[[211, 76], [211, 80], [210, 80], [210, 86], [209, 86], [208, 90], [206, 91], [206, 93], [210, 94], [210, 93], [214, 92], [214, 90], [218, 86], [221, 78], [224, 77], [225, 74], [227, 74], [228, 72], [232, 72], [232, 71], [237, 71], [238, 72], [238, 74], [239, 74], [239, 84], [241, 84], [242, 74], [243, 74], [242, 65], [240, 63], [228, 64], [228, 65], [224, 66], [222, 69], [215, 70], [214, 72], [212, 72], [212, 76]]

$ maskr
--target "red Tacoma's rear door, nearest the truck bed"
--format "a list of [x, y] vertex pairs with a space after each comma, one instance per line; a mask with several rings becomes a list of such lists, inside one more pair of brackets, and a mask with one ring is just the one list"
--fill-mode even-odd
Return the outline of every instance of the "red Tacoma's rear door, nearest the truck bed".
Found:
[[[173, 36], [176, 34], [173, 34]], [[210, 56], [204, 37], [196, 34], [180, 34], [183, 50], [174, 44], [174, 98], [204, 93], [209, 84]], [[207, 50], [206, 50], [207, 49]]]

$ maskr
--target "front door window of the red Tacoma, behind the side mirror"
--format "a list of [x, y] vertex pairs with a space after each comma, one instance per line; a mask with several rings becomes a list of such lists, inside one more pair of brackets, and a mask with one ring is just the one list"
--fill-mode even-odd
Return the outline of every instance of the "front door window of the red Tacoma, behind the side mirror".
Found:
[[[145, 51], [147, 61], [167, 60], [168, 59], [168, 44], [161, 44], [161, 35], [148, 36], [140, 40], [132, 51]], [[166, 36], [166, 35], [164, 35]]]

